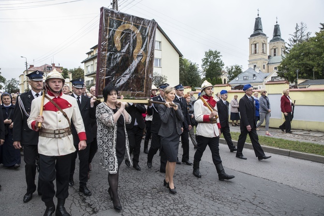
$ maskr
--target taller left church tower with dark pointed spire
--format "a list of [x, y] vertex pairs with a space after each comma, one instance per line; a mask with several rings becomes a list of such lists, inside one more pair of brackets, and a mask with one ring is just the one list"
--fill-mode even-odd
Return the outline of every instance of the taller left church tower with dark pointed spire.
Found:
[[[258, 10], [259, 11], [259, 10]], [[249, 37], [250, 42], [250, 55], [249, 55], [249, 67], [254, 68], [256, 72], [268, 73], [267, 63], [267, 44], [268, 37], [262, 31], [261, 17], [255, 18], [254, 31]]]

